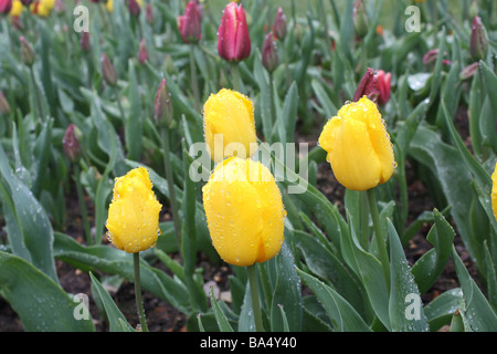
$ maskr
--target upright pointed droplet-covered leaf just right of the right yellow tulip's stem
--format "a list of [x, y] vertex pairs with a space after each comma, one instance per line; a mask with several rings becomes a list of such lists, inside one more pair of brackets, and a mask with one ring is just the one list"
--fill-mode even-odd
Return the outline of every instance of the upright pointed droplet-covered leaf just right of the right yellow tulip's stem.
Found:
[[421, 295], [405, 259], [393, 223], [389, 221], [390, 302], [389, 314], [393, 332], [426, 332]]

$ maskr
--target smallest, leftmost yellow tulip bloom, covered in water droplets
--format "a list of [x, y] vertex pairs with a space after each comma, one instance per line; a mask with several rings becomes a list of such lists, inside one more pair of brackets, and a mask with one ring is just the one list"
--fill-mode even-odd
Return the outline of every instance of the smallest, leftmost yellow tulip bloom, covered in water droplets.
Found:
[[146, 168], [135, 168], [126, 176], [116, 178], [113, 201], [108, 208], [109, 241], [128, 253], [155, 247], [160, 235], [161, 208]]

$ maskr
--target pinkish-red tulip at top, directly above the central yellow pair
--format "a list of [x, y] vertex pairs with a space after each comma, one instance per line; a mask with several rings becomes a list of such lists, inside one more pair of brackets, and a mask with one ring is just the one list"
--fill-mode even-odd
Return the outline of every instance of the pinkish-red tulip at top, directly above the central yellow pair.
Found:
[[219, 27], [218, 52], [226, 61], [242, 61], [251, 54], [251, 38], [245, 10], [230, 2], [221, 18]]

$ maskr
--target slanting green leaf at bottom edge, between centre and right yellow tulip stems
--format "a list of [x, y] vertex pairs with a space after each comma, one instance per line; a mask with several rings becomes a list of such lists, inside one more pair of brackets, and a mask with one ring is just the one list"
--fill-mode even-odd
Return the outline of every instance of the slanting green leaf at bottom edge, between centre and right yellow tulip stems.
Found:
[[317, 278], [297, 269], [302, 280], [316, 294], [334, 326], [339, 332], [371, 332], [350, 303]]

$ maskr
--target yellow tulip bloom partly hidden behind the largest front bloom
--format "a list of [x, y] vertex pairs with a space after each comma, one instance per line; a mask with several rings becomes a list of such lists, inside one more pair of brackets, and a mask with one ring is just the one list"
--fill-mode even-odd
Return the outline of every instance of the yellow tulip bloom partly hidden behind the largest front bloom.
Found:
[[210, 95], [203, 106], [203, 129], [215, 163], [229, 156], [248, 158], [257, 149], [252, 101], [236, 91], [222, 88]]

